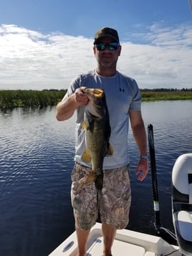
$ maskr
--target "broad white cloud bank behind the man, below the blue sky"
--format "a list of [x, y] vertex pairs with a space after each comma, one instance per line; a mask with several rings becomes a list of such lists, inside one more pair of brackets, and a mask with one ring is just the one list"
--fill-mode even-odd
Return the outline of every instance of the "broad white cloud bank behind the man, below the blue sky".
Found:
[[[192, 27], [153, 24], [130, 38], [122, 42], [121, 72], [142, 88], [192, 87]], [[0, 26], [0, 55], [0, 89], [67, 88], [76, 75], [96, 65], [92, 39], [42, 34], [14, 24]]]

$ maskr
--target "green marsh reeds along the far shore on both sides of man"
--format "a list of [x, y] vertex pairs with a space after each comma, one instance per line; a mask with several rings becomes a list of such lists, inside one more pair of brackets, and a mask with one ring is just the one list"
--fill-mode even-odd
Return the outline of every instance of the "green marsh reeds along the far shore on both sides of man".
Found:
[[[66, 90], [0, 90], [0, 110], [13, 108], [44, 108], [62, 100]], [[143, 101], [192, 100], [192, 89], [144, 89]]]

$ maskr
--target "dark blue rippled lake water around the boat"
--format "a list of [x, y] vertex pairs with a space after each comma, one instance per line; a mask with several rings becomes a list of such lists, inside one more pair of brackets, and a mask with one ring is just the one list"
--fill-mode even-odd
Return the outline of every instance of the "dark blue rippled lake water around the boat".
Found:
[[[160, 219], [173, 229], [171, 171], [176, 158], [192, 152], [192, 101], [143, 103], [146, 129], [153, 125]], [[55, 108], [0, 113], [0, 255], [46, 256], [71, 232], [70, 203], [75, 116], [65, 122]], [[148, 177], [135, 177], [138, 151], [130, 131], [132, 206], [129, 229], [155, 234]]]

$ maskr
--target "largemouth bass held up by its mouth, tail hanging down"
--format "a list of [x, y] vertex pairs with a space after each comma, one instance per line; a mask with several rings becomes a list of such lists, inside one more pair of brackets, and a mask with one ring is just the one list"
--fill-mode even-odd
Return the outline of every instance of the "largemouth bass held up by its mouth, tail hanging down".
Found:
[[82, 128], [85, 129], [85, 152], [82, 161], [92, 163], [92, 171], [85, 183], [95, 181], [98, 190], [103, 184], [103, 159], [113, 153], [110, 145], [110, 118], [103, 89], [86, 88], [83, 93], [89, 98], [85, 107], [85, 121]]

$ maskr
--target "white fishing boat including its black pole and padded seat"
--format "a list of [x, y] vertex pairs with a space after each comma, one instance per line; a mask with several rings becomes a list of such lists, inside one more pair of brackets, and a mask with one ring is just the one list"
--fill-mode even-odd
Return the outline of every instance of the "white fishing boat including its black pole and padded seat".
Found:
[[[150, 169], [153, 187], [155, 231], [157, 235], [118, 229], [112, 256], [192, 256], [192, 153], [179, 156], [172, 171], [172, 209], [175, 233], [160, 224], [158, 185], [155, 166], [153, 125], [148, 125]], [[174, 244], [168, 242], [175, 240]], [[87, 256], [101, 256], [102, 224], [96, 223], [87, 241]], [[49, 256], [76, 256], [77, 237], [73, 232]]]

